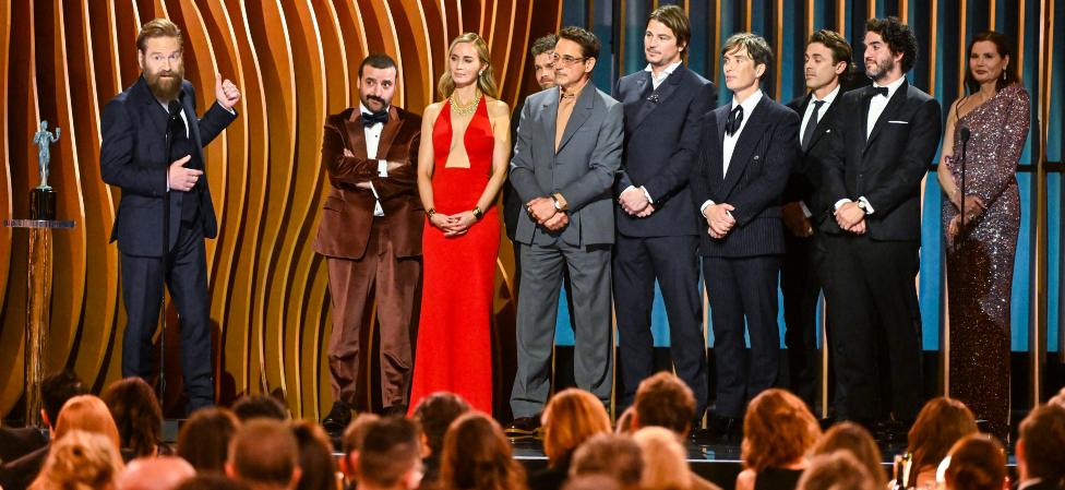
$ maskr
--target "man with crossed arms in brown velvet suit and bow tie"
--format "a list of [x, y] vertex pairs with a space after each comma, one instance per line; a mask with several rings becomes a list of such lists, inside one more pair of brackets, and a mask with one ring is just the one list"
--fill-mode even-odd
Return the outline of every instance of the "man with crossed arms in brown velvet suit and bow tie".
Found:
[[327, 258], [333, 298], [334, 402], [322, 421], [332, 434], [351, 419], [371, 298], [380, 324], [381, 403], [385, 414], [406, 413], [421, 277], [423, 211], [415, 172], [421, 118], [392, 106], [396, 64], [387, 56], [362, 61], [358, 86], [359, 107], [325, 121], [322, 163], [332, 189], [314, 240], [314, 251]]

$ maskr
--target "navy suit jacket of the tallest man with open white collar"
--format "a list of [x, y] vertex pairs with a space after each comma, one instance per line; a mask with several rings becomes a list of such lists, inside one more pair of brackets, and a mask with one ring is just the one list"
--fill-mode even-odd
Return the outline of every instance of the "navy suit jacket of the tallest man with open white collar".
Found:
[[618, 81], [613, 97], [625, 106], [625, 151], [614, 195], [629, 186], [647, 189], [655, 213], [637, 218], [614, 205], [618, 232], [629, 237], [671, 237], [698, 232], [689, 180], [698, 151], [698, 122], [717, 105], [717, 87], [677, 67], [654, 89], [650, 72]]

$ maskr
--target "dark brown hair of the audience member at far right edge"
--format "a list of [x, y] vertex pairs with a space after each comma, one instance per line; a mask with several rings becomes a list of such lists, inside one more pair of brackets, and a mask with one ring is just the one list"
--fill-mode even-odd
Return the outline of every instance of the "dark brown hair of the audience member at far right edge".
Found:
[[1065, 477], [1065, 408], [1040, 405], [1020, 422], [1025, 464], [1032, 478], [1058, 481]]

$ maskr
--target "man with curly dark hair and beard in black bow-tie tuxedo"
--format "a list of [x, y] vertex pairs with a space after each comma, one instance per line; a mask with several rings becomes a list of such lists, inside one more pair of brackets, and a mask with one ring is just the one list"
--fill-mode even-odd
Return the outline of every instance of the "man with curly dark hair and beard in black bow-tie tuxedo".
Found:
[[[872, 423], [890, 407], [899, 431], [921, 408], [921, 179], [940, 144], [940, 104], [904, 74], [917, 38], [895, 17], [865, 24], [865, 74], [848, 92], [824, 159], [835, 219], [822, 226], [828, 249], [829, 340], [836, 361], [837, 416]], [[888, 373], [876, 369], [885, 338]], [[890, 401], [878, 399], [884, 378]]]

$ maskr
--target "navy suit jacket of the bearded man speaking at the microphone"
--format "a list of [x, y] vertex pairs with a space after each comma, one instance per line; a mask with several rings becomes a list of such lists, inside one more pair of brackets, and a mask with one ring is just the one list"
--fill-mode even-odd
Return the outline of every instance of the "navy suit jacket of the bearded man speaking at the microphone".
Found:
[[[189, 138], [200, 152], [206, 167], [203, 146], [211, 143], [235, 119], [236, 113], [213, 104], [203, 119], [196, 118], [196, 93], [189, 81], [181, 82], [179, 94]], [[140, 256], [163, 256], [163, 196], [167, 193], [167, 171], [170, 160], [165, 153], [168, 115], [152, 94], [144, 77], [115, 96], [100, 117], [100, 175], [104, 182], [122, 190], [111, 241], [118, 240], [122, 253]], [[195, 122], [194, 124], [192, 122]], [[175, 155], [177, 160], [183, 155]], [[211, 189], [204, 174], [196, 182], [200, 192], [172, 192], [170, 196], [170, 248], [178, 239], [182, 201], [200, 196], [203, 235], [218, 235]]]

